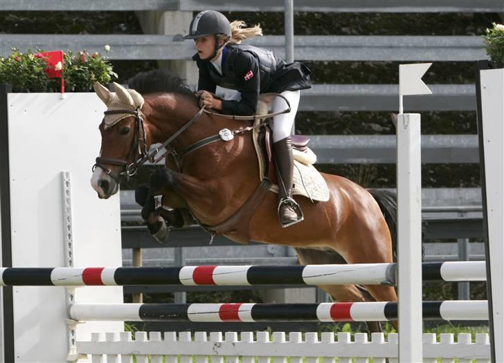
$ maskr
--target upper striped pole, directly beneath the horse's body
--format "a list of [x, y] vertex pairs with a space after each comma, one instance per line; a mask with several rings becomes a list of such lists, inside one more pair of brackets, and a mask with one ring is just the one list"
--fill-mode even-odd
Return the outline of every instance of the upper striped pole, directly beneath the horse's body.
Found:
[[[397, 263], [0, 268], [0, 286], [395, 285]], [[485, 261], [422, 263], [423, 281], [486, 281]], [[71, 298], [70, 301], [73, 301]]]

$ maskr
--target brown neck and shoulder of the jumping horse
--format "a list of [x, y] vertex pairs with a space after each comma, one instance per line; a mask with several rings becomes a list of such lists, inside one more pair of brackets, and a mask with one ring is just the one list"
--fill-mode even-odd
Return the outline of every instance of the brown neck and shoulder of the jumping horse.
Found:
[[[196, 102], [188, 104], [187, 100], [190, 99], [181, 104], [173, 103], [156, 113], [156, 127], [163, 131], [158, 142], [172, 136], [199, 111]], [[181, 133], [174, 146], [179, 152], [194, 142], [217, 135], [220, 129], [235, 130], [245, 126], [249, 124], [204, 113]], [[167, 167], [177, 171], [170, 159], [172, 156], [168, 155]], [[202, 223], [221, 223], [245, 203], [260, 182], [251, 132], [240, 133], [230, 141], [217, 140], [188, 154], [181, 159], [181, 172], [196, 178], [198, 184], [208, 188], [208, 193], [197, 201], [188, 202], [192, 212]]]

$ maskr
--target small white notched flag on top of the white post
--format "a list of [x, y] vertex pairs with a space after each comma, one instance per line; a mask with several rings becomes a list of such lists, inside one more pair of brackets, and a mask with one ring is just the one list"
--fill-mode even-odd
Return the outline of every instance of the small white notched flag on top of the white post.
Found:
[[422, 81], [431, 65], [432, 63], [399, 64], [399, 113], [403, 113], [402, 96], [432, 94]]

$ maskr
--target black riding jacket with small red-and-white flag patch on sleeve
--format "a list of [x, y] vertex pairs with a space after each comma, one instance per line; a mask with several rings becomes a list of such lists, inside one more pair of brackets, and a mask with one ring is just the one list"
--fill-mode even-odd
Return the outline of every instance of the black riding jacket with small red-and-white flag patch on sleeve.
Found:
[[286, 64], [271, 50], [248, 44], [228, 44], [222, 49], [222, 75], [209, 60], [192, 57], [199, 68], [198, 91], [215, 93], [217, 86], [242, 93], [240, 101], [222, 100], [222, 113], [253, 115], [260, 93], [311, 88], [307, 66]]

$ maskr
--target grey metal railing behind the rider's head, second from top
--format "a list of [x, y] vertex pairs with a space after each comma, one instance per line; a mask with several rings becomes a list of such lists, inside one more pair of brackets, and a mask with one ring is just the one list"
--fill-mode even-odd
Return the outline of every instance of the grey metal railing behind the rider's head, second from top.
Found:
[[[269, 48], [285, 57], [285, 37], [267, 35], [247, 43]], [[108, 44], [110, 59], [190, 59], [194, 44], [182, 35], [60, 35], [2, 34], [0, 55], [19, 50], [82, 50], [102, 52]], [[487, 59], [479, 36], [297, 35], [294, 59], [305, 61], [426, 61], [471, 62]]]

